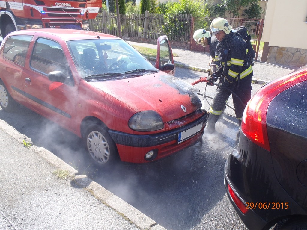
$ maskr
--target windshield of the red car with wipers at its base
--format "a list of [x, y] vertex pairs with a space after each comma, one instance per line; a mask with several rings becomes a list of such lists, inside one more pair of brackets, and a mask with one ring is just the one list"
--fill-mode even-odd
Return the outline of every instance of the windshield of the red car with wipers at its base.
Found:
[[[130, 44], [120, 39], [69, 41], [68, 48], [82, 78], [157, 71]], [[87, 78], [88, 79], [88, 78]]]

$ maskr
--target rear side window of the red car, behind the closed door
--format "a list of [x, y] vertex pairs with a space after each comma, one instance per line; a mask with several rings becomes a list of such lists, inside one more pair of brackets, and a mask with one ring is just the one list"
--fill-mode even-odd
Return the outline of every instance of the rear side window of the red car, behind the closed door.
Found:
[[25, 66], [25, 56], [32, 37], [31, 35], [8, 37], [4, 44], [3, 56], [14, 63]]

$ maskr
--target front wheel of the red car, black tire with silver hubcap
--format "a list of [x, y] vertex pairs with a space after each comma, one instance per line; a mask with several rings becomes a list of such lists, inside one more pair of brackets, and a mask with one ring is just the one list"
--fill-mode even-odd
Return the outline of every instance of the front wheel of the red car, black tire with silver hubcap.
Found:
[[97, 165], [111, 165], [119, 158], [116, 145], [102, 122], [86, 125], [83, 142], [91, 159]]

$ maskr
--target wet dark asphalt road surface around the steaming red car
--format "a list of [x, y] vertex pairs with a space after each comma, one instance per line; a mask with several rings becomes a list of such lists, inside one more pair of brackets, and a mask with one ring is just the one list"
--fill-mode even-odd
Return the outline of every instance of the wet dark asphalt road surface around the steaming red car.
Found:
[[[204, 76], [183, 68], [176, 71], [176, 76], [187, 82]], [[196, 86], [203, 93], [206, 84]], [[260, 87], [253, 84], [253, 93]], [[213, 97], [215, 90], [216, 86], [208, 86], [206, 95]], [[232, 105], [231, 98], [228, 102]], [[205, 107], [208, 109], [209, 104]], [[19, 113], [0, 110], [0, 117], [31, 138], [34, 145], [51, 151], [166, 229], [246, 230], [223, 185], [224, 164], [238, 131], [233, 110], [226, 108], [225, 113], [217, 123], [216, 134], [204, 135], [202, 145], [155, 163], [121, 162], [112, 168], [93, 165], [77, 136], [25, 107]]]

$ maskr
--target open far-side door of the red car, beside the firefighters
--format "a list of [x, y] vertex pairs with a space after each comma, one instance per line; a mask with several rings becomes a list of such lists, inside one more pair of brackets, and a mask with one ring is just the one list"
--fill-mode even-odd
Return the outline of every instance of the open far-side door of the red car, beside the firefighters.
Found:
[[175, 75], [174, 58], [167, 36], [160, 36], [157, 40], [157, 59], [155, 67], [170, 75]]

